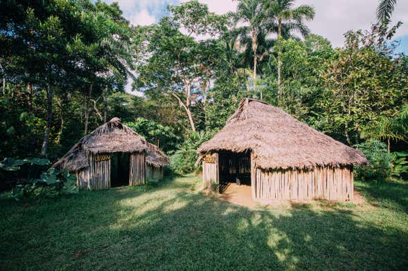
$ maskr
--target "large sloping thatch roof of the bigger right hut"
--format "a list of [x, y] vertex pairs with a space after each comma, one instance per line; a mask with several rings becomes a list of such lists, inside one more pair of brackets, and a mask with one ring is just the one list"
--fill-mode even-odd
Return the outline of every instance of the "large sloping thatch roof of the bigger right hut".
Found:
[[252, 99], [242, 100], [225, 127], [204, 142], [198, 152], [222, 150], [253, 151], [256, 167], [263, 169], [368, 163], [357, 149], [312, 129], [275, 106]]

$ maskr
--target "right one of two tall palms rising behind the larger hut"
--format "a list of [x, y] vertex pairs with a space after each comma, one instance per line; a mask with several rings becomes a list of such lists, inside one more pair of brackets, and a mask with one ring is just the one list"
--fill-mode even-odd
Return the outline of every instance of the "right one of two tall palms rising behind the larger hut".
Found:
[[[305, 26], [304, 21], [310, 21], [314, 17], [314, 8], [311, 6], [302, 5], [297, 8], [292, 8], [294, 0], [274, 0], [268, 3], [267, 17], [269, 18], [269, 26], [276, 27], [278, 39], [290, 37], [292, 32], [300, 32], [306, 36], [310, 30]], [[281, 96], [281, 76], [282, 62], [278, 53], [278, 97]]]

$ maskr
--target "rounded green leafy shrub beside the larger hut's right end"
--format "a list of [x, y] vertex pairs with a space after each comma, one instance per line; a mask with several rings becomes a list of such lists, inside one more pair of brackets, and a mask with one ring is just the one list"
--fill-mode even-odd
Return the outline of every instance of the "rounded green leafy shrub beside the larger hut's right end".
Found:
[[385, 180], [391, 176], [392, 155], [387, 145], [378, 140], [369, 140], [355, 145], [369, 160], [371, 165], [356, 166], [355, 176], [362, 180]]

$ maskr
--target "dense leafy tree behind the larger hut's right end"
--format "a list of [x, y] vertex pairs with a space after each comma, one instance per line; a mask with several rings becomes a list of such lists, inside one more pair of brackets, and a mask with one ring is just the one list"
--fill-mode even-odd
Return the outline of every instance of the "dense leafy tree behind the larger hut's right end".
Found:
[[[358, 143], [360, 132], [373, 122], [378, 124], [379, 116], [398, 115], [408, 98], [406, 63], [394, 58], [387, 41], [379, 41], [382, 35], [377, 25], [370, 32], [347, 32], [344, 48], [322, 68], [321, 79], [328, 89], [320, 100], [321, 115], [330, 118], [332, 129], [344, 129], [348, 144]], [[384, 135], [384, 131], [378, 133]]]

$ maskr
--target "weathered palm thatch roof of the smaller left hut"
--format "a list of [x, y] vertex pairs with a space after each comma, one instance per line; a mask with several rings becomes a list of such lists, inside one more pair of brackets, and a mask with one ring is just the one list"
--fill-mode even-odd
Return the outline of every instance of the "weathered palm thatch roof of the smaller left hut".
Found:
[[[112, 118], [75, 144], [53, 167], [66, 168], [69, 171], [79, 171], [89, 167], [89, 153], [148, 153], [147, 160], [152, 165], [168, 165], [168, 158], [154, 144], [122, 124], [121, 119]], [[149, 156], [152, 156], [150, 158]]]

